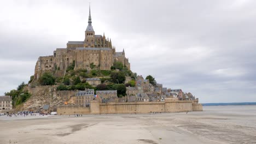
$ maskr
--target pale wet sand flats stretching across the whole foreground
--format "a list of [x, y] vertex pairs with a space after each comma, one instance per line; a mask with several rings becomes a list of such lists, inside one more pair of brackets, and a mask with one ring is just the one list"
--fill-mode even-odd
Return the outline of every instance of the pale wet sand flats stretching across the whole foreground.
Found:
[[256, 106], [156, 115], [0, 117], [0, 143], [256, 143]]

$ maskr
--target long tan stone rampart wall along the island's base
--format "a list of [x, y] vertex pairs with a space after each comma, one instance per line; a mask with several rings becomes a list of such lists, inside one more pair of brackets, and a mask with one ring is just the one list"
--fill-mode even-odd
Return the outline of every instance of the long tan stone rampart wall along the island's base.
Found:
[[170, 98], [159, 102], [131, 102], [131, 103], [99, 103], [92, 100], [90, 107], [78, 105], [58, 106], [57, 112], [70, 115], [75, 112], [81, 114], [110, 114], [110, 113], [150, 113], [150, 112], [187, 112], [202, 111], [201, 104], [193, 104], [193, 100], [177, 100]]

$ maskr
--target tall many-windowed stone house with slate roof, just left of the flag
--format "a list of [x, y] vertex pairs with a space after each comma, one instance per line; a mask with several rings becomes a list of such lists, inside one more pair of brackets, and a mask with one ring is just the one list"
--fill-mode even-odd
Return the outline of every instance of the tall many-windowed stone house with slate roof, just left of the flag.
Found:
[[90, 101], [94, 99], [94, 89], [85, 89], [75, 93], [75, 104], [90, 106]]

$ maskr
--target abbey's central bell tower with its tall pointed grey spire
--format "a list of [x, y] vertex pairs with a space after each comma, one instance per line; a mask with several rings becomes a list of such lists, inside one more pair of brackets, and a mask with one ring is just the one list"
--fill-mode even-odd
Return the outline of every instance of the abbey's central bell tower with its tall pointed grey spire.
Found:
[[89, 5], [89, 19], [88, 26], [85, 30], [84, 47], [95, 47], [95, 32], [91, 23], [91, 5]]

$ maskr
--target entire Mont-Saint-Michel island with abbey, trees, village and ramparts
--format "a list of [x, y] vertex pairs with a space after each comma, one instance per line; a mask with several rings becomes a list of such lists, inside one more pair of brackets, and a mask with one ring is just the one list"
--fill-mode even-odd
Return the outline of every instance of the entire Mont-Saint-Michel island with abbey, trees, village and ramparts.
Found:
[[89, 8], [84, 40], [40, 56], [28, 85], [6, 93], [12, 101], [1, 108], [58, 115], [202, 111], [190, 92], [166, 88], [151, 75], [144, 79], [130, 67], [124, 49], [116, 51], [110, 38], [95, 34]]

